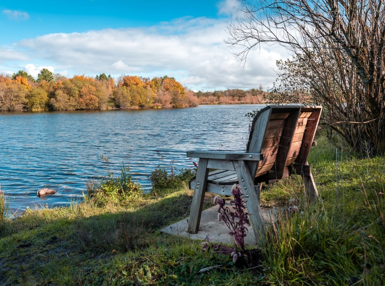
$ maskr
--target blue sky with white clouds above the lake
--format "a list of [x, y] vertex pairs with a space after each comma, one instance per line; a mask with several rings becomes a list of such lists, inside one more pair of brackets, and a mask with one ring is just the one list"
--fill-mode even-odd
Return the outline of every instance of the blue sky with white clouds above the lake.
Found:
[[[0, 74], [42, 68], [66, 77], [168, 75], [193, 90], [272, 86], [286, 51], [238, 62], [224, 40], [235, 0], [0, 2]], [[235, 48], [234, 50], [237, 50]]]

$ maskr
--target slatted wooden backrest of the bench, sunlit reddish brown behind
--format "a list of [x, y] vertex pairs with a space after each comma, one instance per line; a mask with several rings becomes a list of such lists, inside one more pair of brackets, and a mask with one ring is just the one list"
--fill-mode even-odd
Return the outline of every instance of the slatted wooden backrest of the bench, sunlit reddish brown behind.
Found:
[[262, 153], [263, 160], [249, 163], [251, 174], [269, 173], [270, 179], [281, 179], [286, 166], [306, 164], [321, 111], [321, 106], [267, 106], [260, 110], [251, 126], [247, 152]]

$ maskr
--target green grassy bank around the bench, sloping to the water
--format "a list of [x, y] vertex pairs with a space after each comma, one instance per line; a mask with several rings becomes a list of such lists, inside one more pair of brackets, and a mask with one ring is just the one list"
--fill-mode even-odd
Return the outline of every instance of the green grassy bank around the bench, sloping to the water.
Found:
[[[3, 219], [0, 284], [385, 284], [385, 157], [351, 157], [325, 137], [317, 141], [310, 163], [319, 203], [305, 203], [295, 176], [262, 191], [263, 206], [284, 210], [294, 198], [299, 211], [268, 225], [260, 266], [238, 268], [229, 256], [202, 252], [201, 241], [159, 232], [188, 216], [193, 192], [185, 182], [167, 185], [160, 174], [166, 188], [141, 195], [123, 175], [84, 202]], [[214, 265], [221, 266], [199, 272]]]

